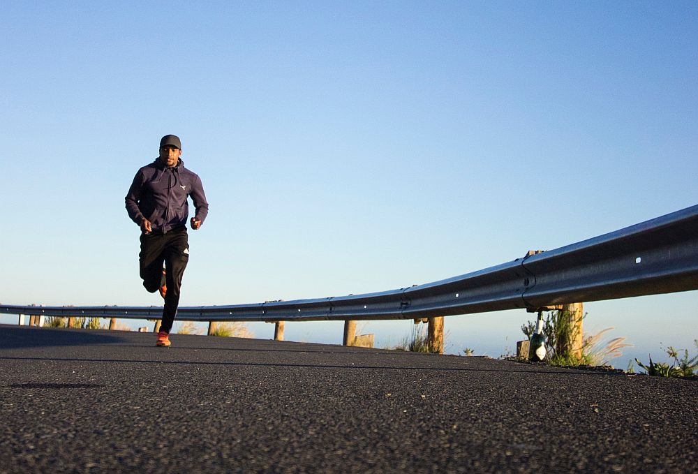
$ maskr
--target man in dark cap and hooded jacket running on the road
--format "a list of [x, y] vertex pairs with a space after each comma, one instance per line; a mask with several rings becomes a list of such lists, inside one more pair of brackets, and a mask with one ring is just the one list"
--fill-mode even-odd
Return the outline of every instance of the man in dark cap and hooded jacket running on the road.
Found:
[[[126, 195], [126, 211], [140, 225], [140, 277], [151, 293], [165, 298], [163, 322], [156, 346], [170, 346], [170, 330], [177, 316], [181, 277], [189, 260], [186, 219], [191, 196], [195, 215], [191, 228], [201, 227], [209, 212], [201, 179], [184, 168], [181, 141], [175, 135], [160, 140], [160, 156], [140, 168]], [[163, 270], [163, 263], [165, 269]]]

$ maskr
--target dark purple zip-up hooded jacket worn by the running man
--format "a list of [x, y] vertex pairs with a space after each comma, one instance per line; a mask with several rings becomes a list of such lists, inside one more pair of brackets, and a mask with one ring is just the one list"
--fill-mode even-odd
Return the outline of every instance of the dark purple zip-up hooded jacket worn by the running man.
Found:
[[138, 170], [133, 178], [126, 195], [126, 211], [133, 222], [140, 225], [143, 218], [148, 219], [154, 233], [164, 234], [186, 225], [189, 214], [186, 198], [190, 195], [195, 218], [203, 223], [209, 204], [201, 179], [184, 168], [181, 158], [175, 167], [165, 166], [156, 159]]

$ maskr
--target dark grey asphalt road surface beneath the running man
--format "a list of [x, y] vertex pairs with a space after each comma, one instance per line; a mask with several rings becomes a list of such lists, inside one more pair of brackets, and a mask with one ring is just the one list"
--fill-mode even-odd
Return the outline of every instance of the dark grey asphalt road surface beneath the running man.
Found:
[[0, 472], [695, 473], [698, 382], [0, 325]]

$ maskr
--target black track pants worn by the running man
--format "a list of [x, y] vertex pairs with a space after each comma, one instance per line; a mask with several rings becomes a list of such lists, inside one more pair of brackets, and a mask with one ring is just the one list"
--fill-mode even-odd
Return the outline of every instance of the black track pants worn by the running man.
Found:
[[170, 230], [166, 234], [142, 234], [140, 236], [140, 277], [143, 286], [153, 293], [162, 285], [163, 262], [165, 263], [165, 293], [163, 324], [161, 331], [170, 332], [177, 316], [181, 277], [189, 261], [189, 244], [186, 227]]

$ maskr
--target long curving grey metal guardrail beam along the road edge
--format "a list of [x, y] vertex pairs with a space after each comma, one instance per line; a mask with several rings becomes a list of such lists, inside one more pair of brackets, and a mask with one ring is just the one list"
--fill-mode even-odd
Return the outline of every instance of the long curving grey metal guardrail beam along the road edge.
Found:
[[[538, 309], [698, 289], [698, 205], [560, 249], [399, 290], [294, 301], [185, 306], [178, 320], [388, 320]], [[13, 306], [1, 313], [161, 318], [162, 306]]]

